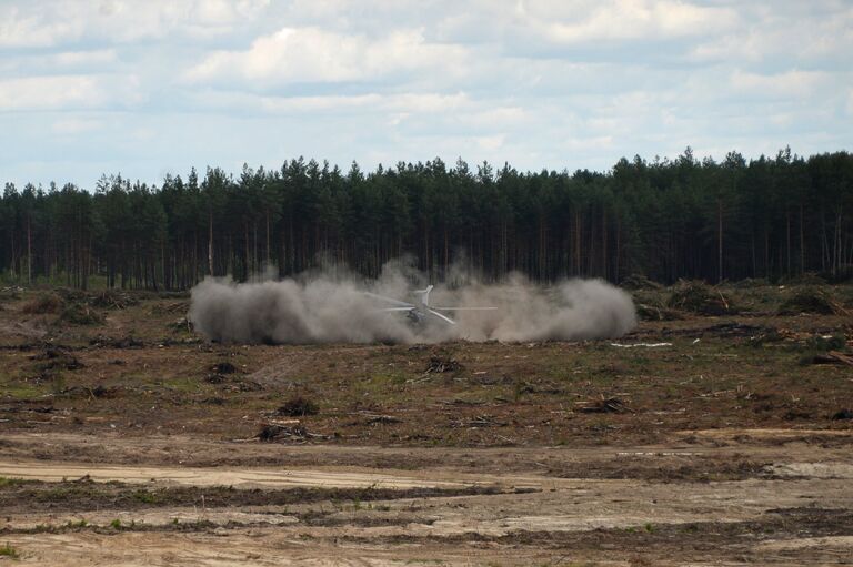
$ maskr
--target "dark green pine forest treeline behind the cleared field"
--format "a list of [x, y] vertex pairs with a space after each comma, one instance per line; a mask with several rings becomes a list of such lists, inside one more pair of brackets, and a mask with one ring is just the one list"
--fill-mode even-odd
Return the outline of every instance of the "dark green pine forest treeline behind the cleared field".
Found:
[[363, 172], [303, 159], [167, 175], [102, 176], [87, 191], [7, 183], [7, 281], [183, 290], [207, 274], [244, 280], [321, 262], [374, 276], [411, 255], [431, 279], [460, 263], [485, 279], [632, 273], [739, 280], [841, 274], [853, 265], [853, 154], [790, 150], [746, 160], [620, 160], [608, 173], [519, 172], [439, 159]]

